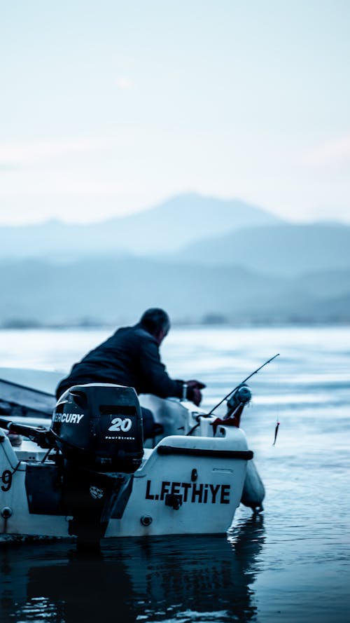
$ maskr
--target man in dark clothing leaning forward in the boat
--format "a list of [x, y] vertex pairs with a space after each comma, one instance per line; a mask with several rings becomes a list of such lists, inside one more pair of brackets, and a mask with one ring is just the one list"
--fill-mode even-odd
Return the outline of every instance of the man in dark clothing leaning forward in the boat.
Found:
[[[72, 385], [115, 383], [132, 387], [137, 394], [187, 398], [199, 406], [204, 383], [173, 380], [160, 360], [159, 347], [169, 329], [169, 316], [164, 310], [146, 310], [134, 327], [118, 329], [74, 364], [69, 376], [59, 383], [57, 398]], [[146, 438], [152, 435], [154, 420], [148, 409], [142, 409], [142, 413]]]

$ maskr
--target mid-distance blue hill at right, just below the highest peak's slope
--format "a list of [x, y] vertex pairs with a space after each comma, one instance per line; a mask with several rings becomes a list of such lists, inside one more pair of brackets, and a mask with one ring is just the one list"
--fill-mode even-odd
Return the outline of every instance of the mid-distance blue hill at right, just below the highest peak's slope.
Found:
[[195, 242], [172, 259], [201, 266], [244, 266], [271, 275], [350, 268], [350, 226], [276, 224]]

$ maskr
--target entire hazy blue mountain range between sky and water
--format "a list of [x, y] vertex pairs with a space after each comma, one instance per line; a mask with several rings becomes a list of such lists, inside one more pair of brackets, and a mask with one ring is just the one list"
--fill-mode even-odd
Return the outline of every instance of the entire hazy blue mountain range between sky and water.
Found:
[[183, 195], [85, 226], [0, 228], [0, 326], [350, 321], [350, 226]]

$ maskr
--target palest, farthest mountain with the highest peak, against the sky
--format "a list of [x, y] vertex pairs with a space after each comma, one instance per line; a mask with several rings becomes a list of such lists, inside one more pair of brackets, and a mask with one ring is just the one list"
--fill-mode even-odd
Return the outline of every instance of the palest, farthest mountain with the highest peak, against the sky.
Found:
[[45, 257], [70, 261], [83, 256], [159, 254], [246, 226], [281, 219], [239, 200], [181, 195], [144, 212], [87, 225], [48, 221], [0, 227], [0, 257]]

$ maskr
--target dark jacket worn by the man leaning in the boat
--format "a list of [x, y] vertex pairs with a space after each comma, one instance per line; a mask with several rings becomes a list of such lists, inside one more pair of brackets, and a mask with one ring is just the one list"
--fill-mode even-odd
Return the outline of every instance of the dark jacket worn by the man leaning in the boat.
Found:
[[183, 381], [173, 381], [169, 377], [160, 361], [157, 341], [140, 324], [118, 329], [74, 364], [69, 376], [59, 383], [57, 397], [80, 383], [127, 385], [138, 394], [155, 394], [162, 398], [180, 398], [183, 394]]

